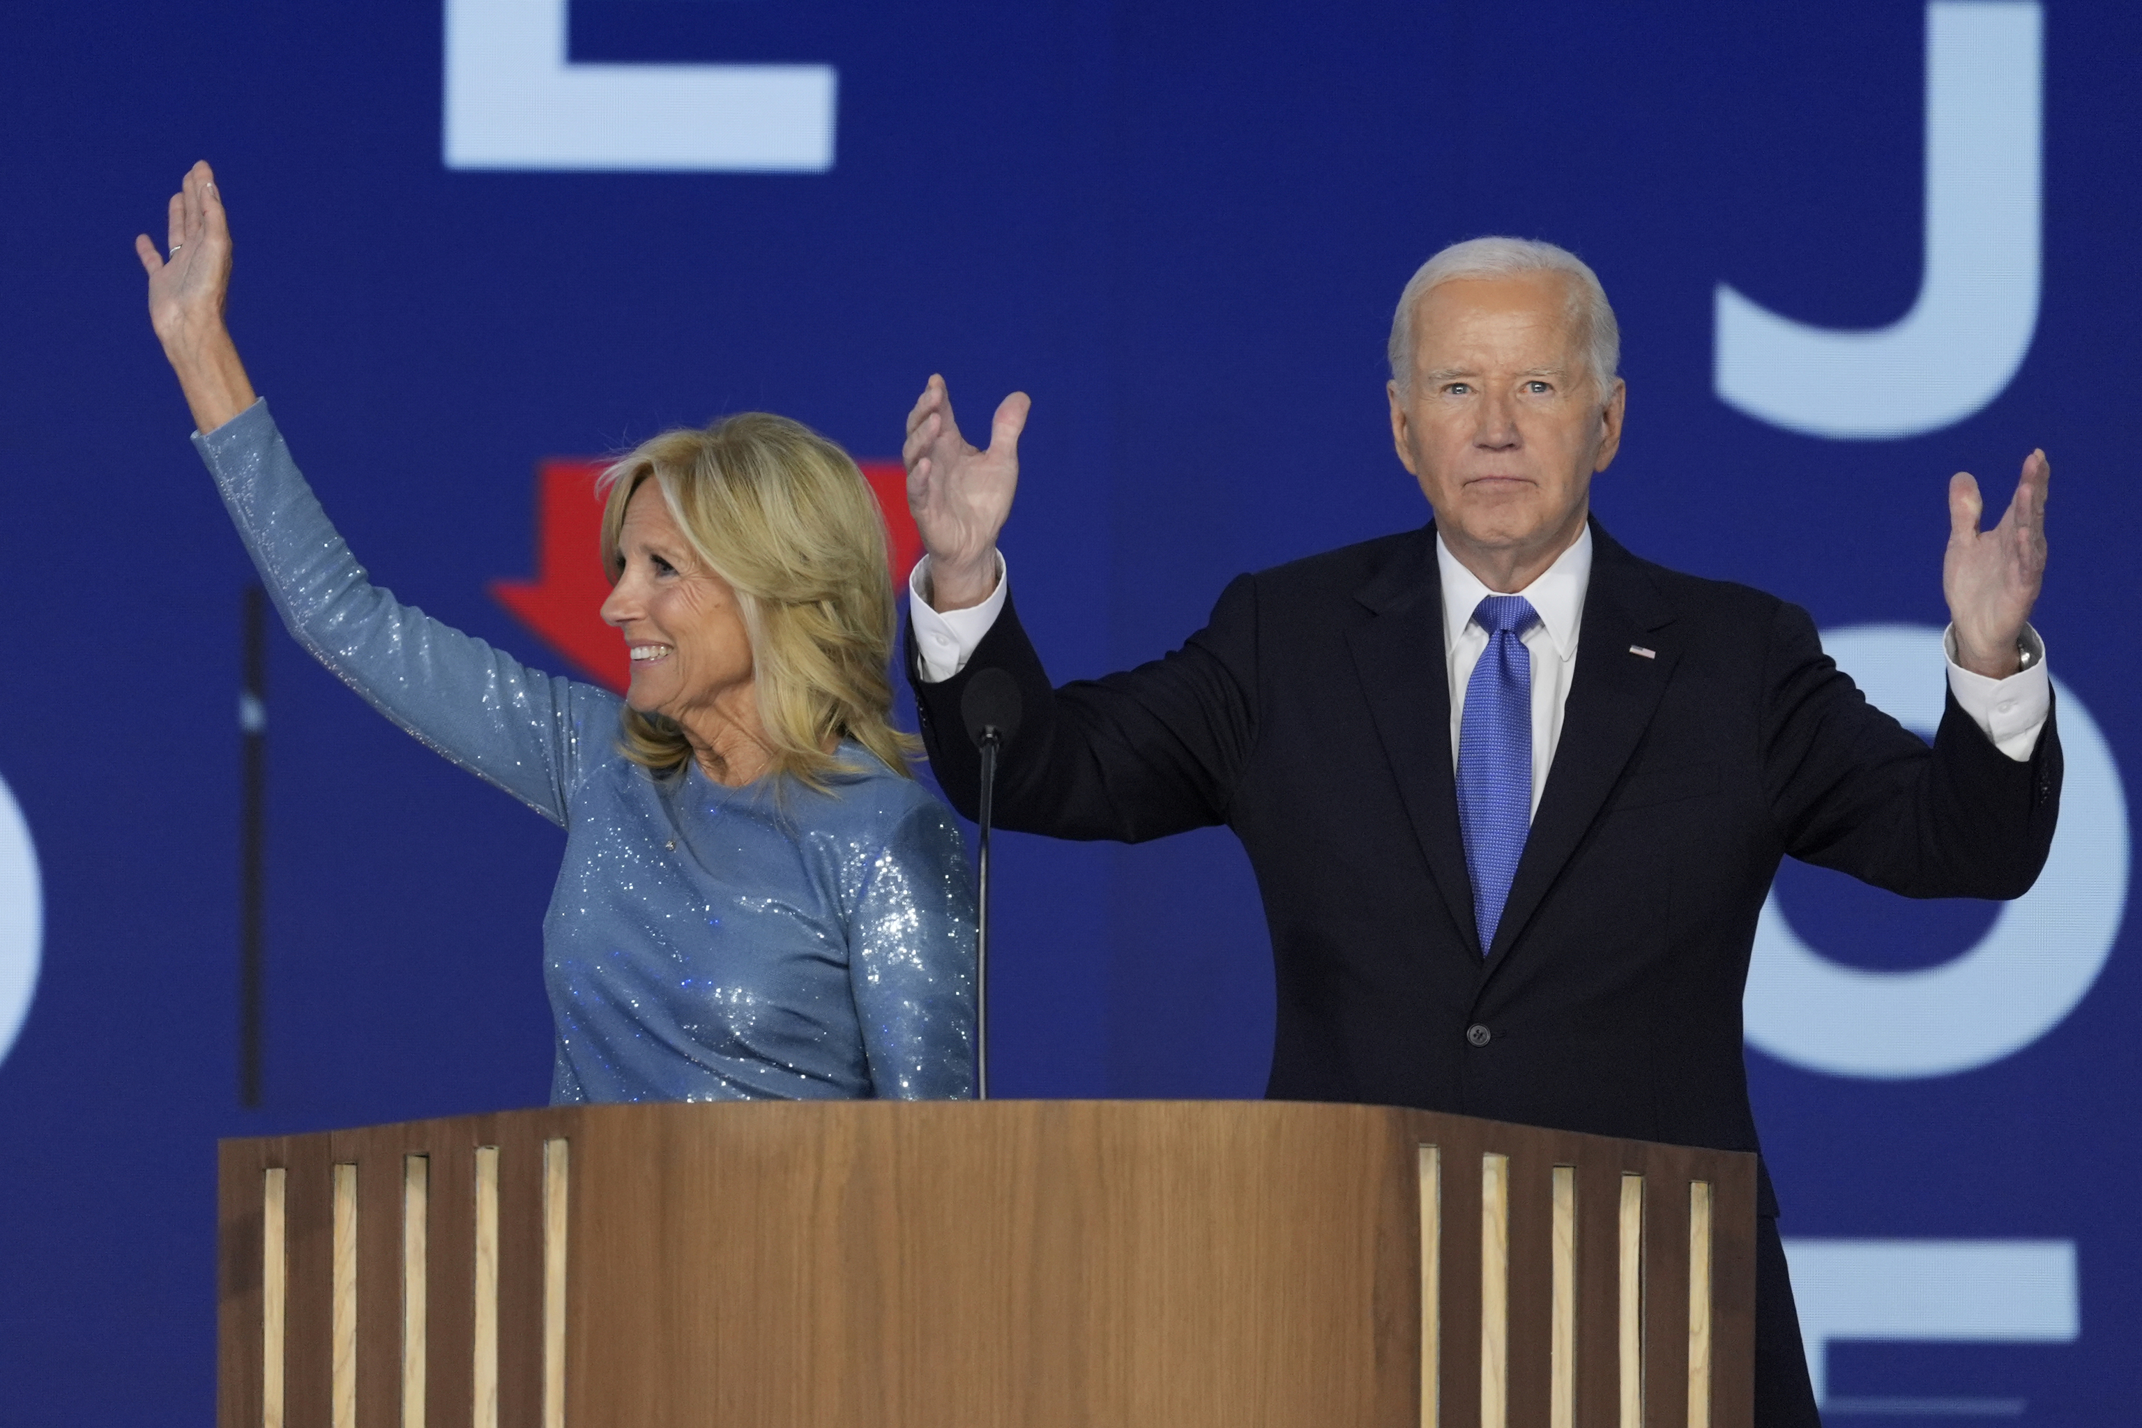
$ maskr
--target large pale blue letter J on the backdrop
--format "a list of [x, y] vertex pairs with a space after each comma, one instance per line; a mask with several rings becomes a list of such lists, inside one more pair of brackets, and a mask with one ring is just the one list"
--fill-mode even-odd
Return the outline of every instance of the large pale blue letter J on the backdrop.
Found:
[[1926, 268], [1889, 328], [1810, 328], [1718, 285], [1718, 396], [1810, 437], [1917, 437], [2001, 396], [2037, 330], [2043, 13], [1926, 6]]

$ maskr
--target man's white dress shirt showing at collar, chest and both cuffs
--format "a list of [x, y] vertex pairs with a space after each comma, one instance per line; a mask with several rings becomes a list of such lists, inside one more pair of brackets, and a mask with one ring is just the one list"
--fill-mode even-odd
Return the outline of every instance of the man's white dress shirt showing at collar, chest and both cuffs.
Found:
[[[1459, 730], [1465, 724], [1465, 685], [1487, 649], [1487, 632], [1474, 621], [1474, 610], [1491, 591], [1480, 576], [1465, 569], [1450, 548], [1444, 546], [1442, 531], [1435, 535], [1435, 565], [1444, 584], [1444, 668], [1450, 677], [1450, 766], [1459, 762]], [[930, 557], [915, 565], [908, 576], [908, 614], [915, 621], [915, 644], [923, 664], [923, 681], [938, 683], [951, 679], [975, 655], [981, 636], [1005, 610], [1005, 593], [1011, 589], [1011, 567], [998, 555], [996, 589], [979, 606], [966, 610], [932, 610], [923, 591], [930, 584]], [[1532, 651], [1532, 811], [1540, 811], [1540, 794], [1547, 790], [1547, 771], [1555, 764], [1555, 745], [1562, 741], [1562, 709], [1570, 698], [1570, 674], [1577, 670], [1577, 636], [1585, 617], [1585, 591], [1592, 584], [1592, 527], [1587, 525], [1568, 550], [1549, 565], [1538, 580], [1521, 591], [1540, 614], [1540, 623], [1519, 636]], [[1956, 664], [1956, 627], [1943, 636], [1949, 657], [1949, 692], [1958, 707], [1971, 715], [1988, 739], [2016, 762], [2031, 758], [2037, 734], [2052, 713], [2052, 677], [2046, 672], [2046, 644], [2037, 632], [2024, 627], [2024, 649], [2031, 664], [2007, 679], [1973, 674]]]

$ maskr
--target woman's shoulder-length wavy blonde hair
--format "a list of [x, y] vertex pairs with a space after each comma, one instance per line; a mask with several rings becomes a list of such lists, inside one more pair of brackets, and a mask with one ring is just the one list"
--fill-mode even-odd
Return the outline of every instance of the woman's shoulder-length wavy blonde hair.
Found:
[[[915, 777], [921, 741], [891, 724], [893, 580], [885, 518], [844, 450], [767, 411], [645, 441], [602, 473], [602, 565], [615, 580], [625, 505], [662, 488], [692, 550], [737, 591], [752, 640], [771, 773], [825, 790], [846, 766], [827, 745], [853, 739]], [[675, 719], [623, 711], [619, 751], [658, 775], [692, 760]]]

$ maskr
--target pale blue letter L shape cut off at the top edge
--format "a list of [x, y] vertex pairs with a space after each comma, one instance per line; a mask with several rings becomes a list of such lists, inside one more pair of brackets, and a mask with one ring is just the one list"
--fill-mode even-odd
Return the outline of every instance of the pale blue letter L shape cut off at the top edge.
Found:
[[446, 167], [833, 167], [831, 64], [570, 64], [568, 0], [446, 0]]

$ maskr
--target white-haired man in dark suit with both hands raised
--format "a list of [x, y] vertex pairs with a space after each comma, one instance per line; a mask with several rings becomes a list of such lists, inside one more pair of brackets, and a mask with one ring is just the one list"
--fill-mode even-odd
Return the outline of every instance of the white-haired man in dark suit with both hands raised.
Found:
[[[1148, 839], [1227, 824], [1277, 959], [1270, 1096], [1756, 1150], [1741, 987], [1784, 854], [1911, 897], [2018, 897], [2061, 749], [2028, 612], [2041, 452], [2007, 514], [1949, 486], [1949, 702], [1928, 747], [1771, 595], [1651, 565], [1589, 520], [1621, 441], [1619, 334], [1551, 244], [1474, 240], [1401, 295], [1390, 426], [1433, 522], [1240, 576], [1176, 653], [1052, 689], [996, 533], [1026, 398], [987, 450], [940, 379], [908, 420], [910, 674], [951, 799], [960, 698], [1024, 724], [998, 820]], [[1816, 1424], [1767, 1173], [1756, 1422]]]

